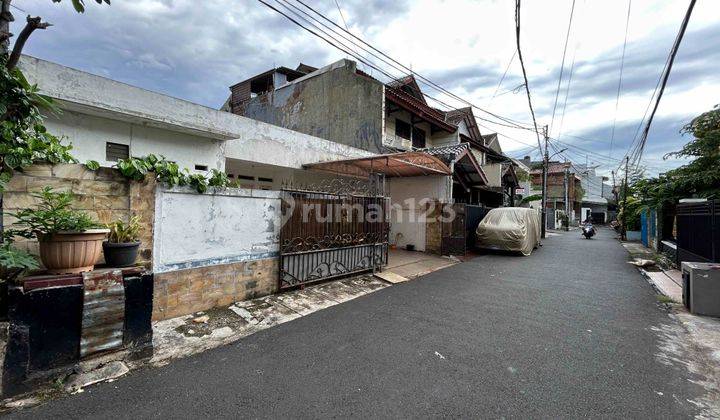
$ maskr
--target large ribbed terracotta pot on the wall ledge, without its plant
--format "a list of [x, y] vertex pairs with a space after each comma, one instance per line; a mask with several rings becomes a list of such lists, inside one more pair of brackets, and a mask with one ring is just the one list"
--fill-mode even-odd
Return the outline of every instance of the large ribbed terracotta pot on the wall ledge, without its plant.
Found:
[[100, 258], [108, 232], [109, 229], [89, 229], [40, 235], [40, 261], [50, 274], [91, 271]]

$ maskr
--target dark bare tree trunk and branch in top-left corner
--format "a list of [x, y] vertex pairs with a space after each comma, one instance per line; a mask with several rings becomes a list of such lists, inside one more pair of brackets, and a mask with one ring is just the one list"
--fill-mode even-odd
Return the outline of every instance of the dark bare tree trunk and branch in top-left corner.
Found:
[[[47, 29], [48, 27], [52, 26], [51, 23], [43, 22], [42, 18], [40, 16], [27, 16], [27, 22], [25, 23], [25, 27], [23, 27], [22, 31], [20, 31], [20, 34], [18, 35], [17, 39], [15, 40], [15, 45], [13, 46], [12, 52], [9, 50], [10, 46], [10, 38], [12, 38], [13, 34], [10, 33], [10, 22], [15, 21], [15, 17], [13, 16], [12, 12], [10, 11], [10, 6], [12, 3], [12, 0], [0, 0], [2, 3], [0, 3], [0, 55], [8, 56], [8, 58], [5, 60], [5, 66], [8, 68], [8, 70], [12, 70], [17, 66], [18, 60], [20, 60], [20, 55], [22, 54], [23, 48], [25, 48], [25, 43], [30, 38], [30, 35], [32, 35], [33, 32], [37, 29]], [[62, 0], [52, 0], [53, 3], [60, 3]], [[78, 13], [83, 13], [85, 11], [85, 0], [71, 0], [72, 5], [75, 8], [75, 10]], [[94, 0], [98, 4], [106, 3], [110, 4], [110, 0]], [[9, 55], [8, 55], [9, 54]]]

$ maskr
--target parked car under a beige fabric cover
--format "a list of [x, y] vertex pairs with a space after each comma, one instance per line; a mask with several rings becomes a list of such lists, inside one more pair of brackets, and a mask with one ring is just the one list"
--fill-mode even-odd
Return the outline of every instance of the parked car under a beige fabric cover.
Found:
[[530, 255], [540, 245], [540, 215], [523, 207], [492, 209], [475, 230], [477, 246]]

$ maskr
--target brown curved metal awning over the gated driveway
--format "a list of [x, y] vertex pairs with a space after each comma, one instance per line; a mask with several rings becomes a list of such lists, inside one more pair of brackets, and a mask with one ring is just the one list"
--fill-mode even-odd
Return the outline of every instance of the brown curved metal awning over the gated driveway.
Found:
[[452, 170], [437, 156], [425, 152], [401, 152], [364, 158], [334, 160], [303, 165], [306, 169], [336, 175], [367, 178], [371, 173], [386, 177], [452, 175]]

